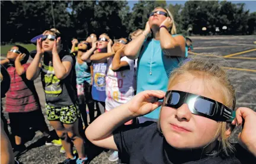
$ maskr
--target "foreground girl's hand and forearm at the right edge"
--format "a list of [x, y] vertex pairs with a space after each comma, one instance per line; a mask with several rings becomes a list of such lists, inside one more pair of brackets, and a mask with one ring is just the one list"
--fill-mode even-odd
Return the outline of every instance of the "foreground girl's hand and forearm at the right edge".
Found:
[[238, 108], [236, 110], [236, 118], [232, 121], [232, 124], [243, 124], [242, 118], [244, 118], [244, 128], [238, 134], [238, 142], [256, 156], [256, 112], [249, 108]]

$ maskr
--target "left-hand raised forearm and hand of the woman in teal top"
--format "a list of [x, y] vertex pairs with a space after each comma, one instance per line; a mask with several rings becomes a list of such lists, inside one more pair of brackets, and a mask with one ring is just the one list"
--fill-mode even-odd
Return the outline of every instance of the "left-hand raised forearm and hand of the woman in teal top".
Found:
[[137, 59], [139, 57], [140, 49], [149, 33], [151, 33], [151, 28], [149, 27], [149, 22], [147, 22], [143, 33], [126, 45], [124, 55], [129, 59]]

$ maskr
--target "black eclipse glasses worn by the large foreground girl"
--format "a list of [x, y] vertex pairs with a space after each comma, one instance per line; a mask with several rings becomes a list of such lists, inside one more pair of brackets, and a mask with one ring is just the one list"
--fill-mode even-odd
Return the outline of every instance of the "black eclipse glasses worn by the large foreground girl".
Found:
[[235, 111], [213, 99], [182, 91], [167, 91], [163, 107], [180, 108], [187, 104], [191, 113], [210, 118], [215, 121], [232, 122]]

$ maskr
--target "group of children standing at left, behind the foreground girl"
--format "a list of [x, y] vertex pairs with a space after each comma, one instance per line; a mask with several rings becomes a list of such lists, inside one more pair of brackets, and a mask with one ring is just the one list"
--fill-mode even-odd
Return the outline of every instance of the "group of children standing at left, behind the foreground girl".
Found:
[[[132, 38], [135, 36], [131, 34]], [[88, 158], [84, 152], [84, 139], [79, 133], [79, 120], [82, 116], [85, 130], [88, 127], [87, 107], [90, 124], [95, 119], [95, 106], [98, 116], [125, 104], [135, 95], [136, 61], [123, 54], [128, 41], [120, 38], [113, 43], [105, 33], [98, 39], [91, 34], [80, 42], [73, 39], [69, 52], [63, 49], [66, 45], [61, 43], [61, 34], [55, 28], [31, 41], [36, 41], [34, 53], [16, 45], [9, 50], [7, 58], [1, 60], [1, 66], [7, 68], [10, 77], [5, 111], [15, 137], [15, 156], [26, 150], [25, 137], [33, 128], [44, 134], [47, 145], [62, 145], [60, 152], [66, 153], [65, 162], [86, 163]], [[27, 63], [29, 56], [33, 58], [31, 63]], [[50, 136], [44, 121], [33, 82], [39, 75], [46, 98], [47, 119], [59, 139]], [[126, 124], [135, 122], [130, 120]], [[6, 131], [8, 133], [7, 128]], [[73, 155], [72, 146], [75, 146], [78, 157]], [[110, 160], [118, 160], [116, 152]]]

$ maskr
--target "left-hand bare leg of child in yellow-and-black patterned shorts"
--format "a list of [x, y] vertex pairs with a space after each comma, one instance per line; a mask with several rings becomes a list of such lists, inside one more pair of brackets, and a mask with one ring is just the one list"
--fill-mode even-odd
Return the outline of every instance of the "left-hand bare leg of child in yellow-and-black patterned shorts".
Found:
[[63, 126], [63, 123], [60, 121], [50, 121], [50, 125], [55, 129], [57, 136], [61, 139], [62, 146], [66, 152], [66, 156], [70, 159], [73, 159], [72, 145], [69, 141], [68, 133]]

